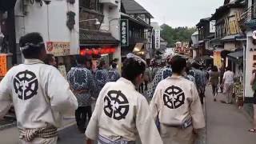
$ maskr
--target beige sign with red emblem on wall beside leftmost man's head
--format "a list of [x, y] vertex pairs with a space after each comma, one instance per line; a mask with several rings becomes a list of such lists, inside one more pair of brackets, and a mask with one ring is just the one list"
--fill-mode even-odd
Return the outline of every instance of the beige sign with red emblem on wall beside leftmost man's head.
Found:
[[70, 55], [70, 42], [46, 42], [46, 51], [55, 57]]

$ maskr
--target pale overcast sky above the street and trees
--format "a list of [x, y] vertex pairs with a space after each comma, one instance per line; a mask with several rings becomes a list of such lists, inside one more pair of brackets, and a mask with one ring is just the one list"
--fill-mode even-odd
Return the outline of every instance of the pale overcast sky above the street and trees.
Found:
[[153, 22], [170, 26], [195, 26], [210, 17], [224, 0], [135, 0], [154, 16]]

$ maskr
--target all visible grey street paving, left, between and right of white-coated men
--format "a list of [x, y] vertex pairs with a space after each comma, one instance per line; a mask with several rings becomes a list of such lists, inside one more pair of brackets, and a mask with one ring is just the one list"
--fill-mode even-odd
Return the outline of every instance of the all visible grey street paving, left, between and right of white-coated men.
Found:
[[[219, 102], [222, 99], [223, 95], [219, 94], [218, 102], [214, 102], [210, 88], [206, 89], [206, 144], [255, 144], [256, 134], [247, 131], [251, 127], [250, 120], [236, 106]], [[85, 135], [78, 132], [74, 119], [68, 124], [70, 126], [60, 130], [58, 144], [84, 143]], [[17, 143], [17, 129], [0, 131], [0, 139], [1, 144]]]

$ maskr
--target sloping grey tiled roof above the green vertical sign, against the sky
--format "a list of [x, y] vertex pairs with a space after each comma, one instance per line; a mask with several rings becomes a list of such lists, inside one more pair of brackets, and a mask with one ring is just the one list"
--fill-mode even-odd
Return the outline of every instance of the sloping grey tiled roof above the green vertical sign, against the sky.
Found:
[[149, 14], [150, 18], [154, 18], [144, 7], [134, 0], [122, 0], [122, 6], [126, 10], [126, 14]]

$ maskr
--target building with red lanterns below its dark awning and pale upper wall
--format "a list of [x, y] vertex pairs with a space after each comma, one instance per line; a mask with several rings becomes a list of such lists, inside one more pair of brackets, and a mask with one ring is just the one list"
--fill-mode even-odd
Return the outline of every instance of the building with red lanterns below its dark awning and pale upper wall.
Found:
[[80, 54], [107, 63], [120, 59], [119, 20], [121, 1], [88, 0], [79, 1], [79, 46]]

